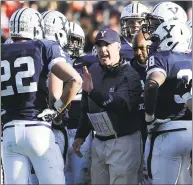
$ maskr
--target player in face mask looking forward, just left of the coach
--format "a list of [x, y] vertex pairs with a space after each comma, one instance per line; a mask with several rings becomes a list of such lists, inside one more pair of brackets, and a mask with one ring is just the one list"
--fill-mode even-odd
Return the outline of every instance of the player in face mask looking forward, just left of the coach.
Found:
[[[83, 29], [74, 22], [70, 22], [70, 34], [68, 36], [68, 44], [65, 51], [72, 59], [73, 67], [82, 76], [82, 68], [84, 65], [89, 67], [93, 62], [97, 62], [97, 58], [92, 55], [85, 55], [83, 52], [85, 45], [85, 34]], [[87, 62], [89, 61], [89, 63]], [[80, 119], [82, 90], [77, 94], [71, 102], [69, 109], [69, 119], [67, 121], [69, 148], [67, 167], [65, 171], [66, 184], [90, 184], [90, 168], [91, 168], [91, 141], [92, 133], [88, 135], [84, 144], [81, 146], [82, 157], [78, 157], [73, 151], [72, 144]]]

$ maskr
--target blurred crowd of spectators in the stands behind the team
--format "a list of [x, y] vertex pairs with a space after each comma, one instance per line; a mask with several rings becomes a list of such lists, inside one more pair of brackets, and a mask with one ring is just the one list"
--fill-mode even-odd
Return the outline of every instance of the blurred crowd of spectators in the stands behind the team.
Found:
[[[98, 30], [110, 27], [120, 33], [120, 15], [123, 8], [131, 3], [128, 0], [107, 1], [1, 1], [1, 42], [9, 37], [9, 18], [12, 13], [22, 7], [30, 7], [40, 13], [47, 10], [62, 12], [69, 21], [78, 23], [84, 30], [85, 53], [90, 53]], [[192, 20], [192, 1], [173, 1], [179, 4]], [[143, 4], [153, 8], [158, 1], [144, 1]]]

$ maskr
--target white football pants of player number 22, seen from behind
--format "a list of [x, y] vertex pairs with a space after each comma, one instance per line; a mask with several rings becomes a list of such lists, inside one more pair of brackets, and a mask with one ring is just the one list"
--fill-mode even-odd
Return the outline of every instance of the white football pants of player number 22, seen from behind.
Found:
[[32, 163], [39, 184], [64, 184], [64, 162], [53, 131], [46, 127], [50, 123], [15, 120], [5, 126], [13, 125], [3, 131], [6, 183], [28, 184]]

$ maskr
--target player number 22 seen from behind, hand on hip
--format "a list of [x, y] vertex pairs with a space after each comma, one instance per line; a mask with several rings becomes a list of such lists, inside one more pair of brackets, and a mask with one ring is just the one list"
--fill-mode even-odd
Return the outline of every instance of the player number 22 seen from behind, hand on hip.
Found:
[[[64, 163], [51, 120], [58, 116], [81, 87], [79, 74], [66, 62], [53, 41], [34, 40], [42, 33], [39, 12], [22, 8], [10, 18], [14, 43], [2, 44], [1, 95], [3, 118], [3, 166], [7, 184], [28, 184], [32, 163], [40, 184], [63, 184]], [[52, 71], [67, 83], [54, 109], [48, 108], [46, 76]], [[44, 83], [40, 81], [44, 80]]]

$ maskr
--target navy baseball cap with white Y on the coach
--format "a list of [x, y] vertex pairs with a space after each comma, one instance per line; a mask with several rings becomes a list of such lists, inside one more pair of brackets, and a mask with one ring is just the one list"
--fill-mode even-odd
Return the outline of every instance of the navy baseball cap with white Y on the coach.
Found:
[[95, 44], [97, 44], [97, 42], [99, 42], [101, 40], [103, 40], [109, 44], [112, 44], [114, 42], [121, 43], [121, 39], [120, 39], [119, 34], [110, 28], [106, 28], [106, 29], [103, 29], [103, 30], [98, 32], [98, 34], [95, 38]]

